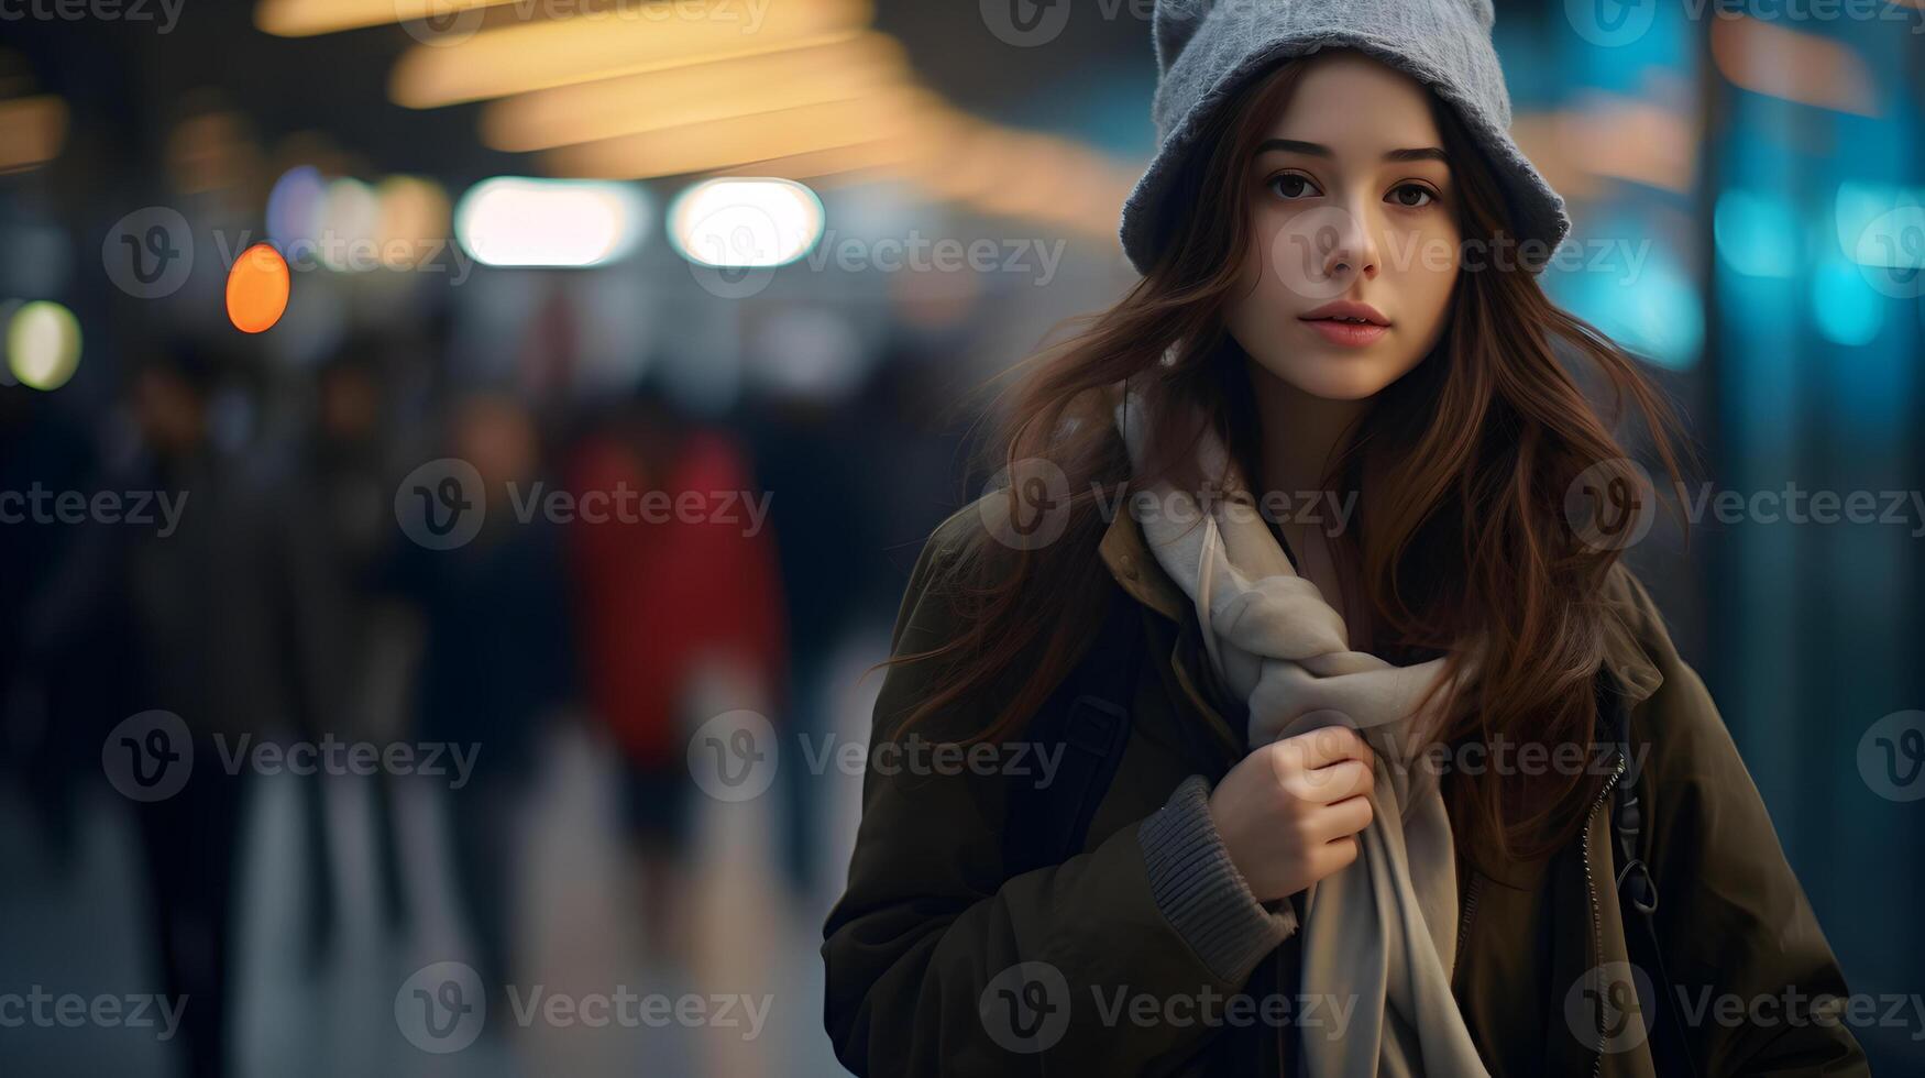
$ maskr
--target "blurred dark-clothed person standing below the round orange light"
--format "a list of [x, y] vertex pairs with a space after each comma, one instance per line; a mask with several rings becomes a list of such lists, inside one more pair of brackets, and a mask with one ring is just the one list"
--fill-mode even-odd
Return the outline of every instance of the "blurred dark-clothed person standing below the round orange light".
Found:
[[[181, 1041], [196, 1076], [231, 1065], [235, 860], [252, 785], [244, 753], [312, 732], [335, 708], [329, 595], [289, 475], [270, 456], [227, 452], [212, 439], [216, 393], [233, 391], [233, 373], [231, 362], [189, 343], [141, 364], [133, 408], [148, 456], [127, 489], [187, 500], [167, 535], [123, 529], [125, 579], [112, 591], [127, 604], [129, 710], [173, 712], [192, 741], [185, 785], [133, 810], [166, 991], [189, 1001]], [[108, 751], [121, 747], [142, 751]], [[164, 766], [135, 760], [141, 770]]]

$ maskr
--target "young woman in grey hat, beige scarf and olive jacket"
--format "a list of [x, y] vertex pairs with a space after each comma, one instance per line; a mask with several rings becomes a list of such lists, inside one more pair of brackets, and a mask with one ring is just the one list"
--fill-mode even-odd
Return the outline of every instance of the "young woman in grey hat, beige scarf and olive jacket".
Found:
[[1488, 2], [1205, 10], [1157, 10], [1143, 281], [1032, 366], [1009, 489], [903, 601], [876, 745], [970, 766], [872, 757], [824, 928], [841, 1061], [1863, 1072], [1617, 564], [1650, 499], [1580, 381], [1675, 474], [1673, 427], [1534, 279], [1569, 221], [1503, 135]]

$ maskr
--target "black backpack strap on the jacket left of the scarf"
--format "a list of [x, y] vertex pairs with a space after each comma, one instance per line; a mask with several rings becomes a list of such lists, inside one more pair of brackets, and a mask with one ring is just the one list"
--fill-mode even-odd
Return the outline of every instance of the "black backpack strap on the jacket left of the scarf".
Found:
[[[1118, 589], [1090, 651], [1020, 733], [1034, 764], [1009, 785], [1003, 859], [1011, 876], [1061, 864], [1082, 849], [1130, 741], [1142, 643], [1142, 610]], [[1061, 753], [1055, 772], [1041, 766], [1043, 753]]]

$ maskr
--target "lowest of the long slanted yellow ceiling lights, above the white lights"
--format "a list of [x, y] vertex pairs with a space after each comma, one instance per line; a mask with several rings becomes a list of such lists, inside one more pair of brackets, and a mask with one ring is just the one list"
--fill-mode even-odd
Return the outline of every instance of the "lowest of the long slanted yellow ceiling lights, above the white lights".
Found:
[[939, 114], [934, 96], [893, 89], [849, 102], [735, 116], [549, 150], [558, 175], [649, 179], [899, 137]]

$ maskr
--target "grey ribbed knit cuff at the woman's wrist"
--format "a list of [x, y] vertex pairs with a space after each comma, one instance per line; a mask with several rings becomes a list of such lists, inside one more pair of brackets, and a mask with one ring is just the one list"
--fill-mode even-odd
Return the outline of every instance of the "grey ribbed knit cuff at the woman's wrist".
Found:
[[1230, 862], [1209, 818], [1209, 782], [1190, 776], [1136, 832], [1157, 909], [1209, 970], [1242, 984], [1249, 970], [1297, 930], [1290, 903], [1270, 912]]

